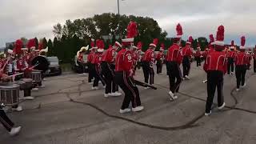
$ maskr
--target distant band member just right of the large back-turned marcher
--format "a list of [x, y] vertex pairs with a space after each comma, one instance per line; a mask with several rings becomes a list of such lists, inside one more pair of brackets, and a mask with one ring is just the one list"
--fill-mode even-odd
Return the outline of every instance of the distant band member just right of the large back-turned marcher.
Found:
[[230, 68], [231, 74], [234, 74], [234, 41], [231, 41], [230, 50], [227, 52], [227, 74], [230, 75]]

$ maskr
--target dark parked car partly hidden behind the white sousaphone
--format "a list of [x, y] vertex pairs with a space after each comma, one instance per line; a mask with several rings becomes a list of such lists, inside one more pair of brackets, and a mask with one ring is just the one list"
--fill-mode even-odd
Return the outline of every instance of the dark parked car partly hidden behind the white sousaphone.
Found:
[[74, 55], [74, 60], [73, 60], [73, 64], [72, 64], [72, 70], [74, 70], [74, 72], [76, 72], [78, 74], [82, 74], [83, 72], [88, 73], [87, 57], [88, 57], [88, 54], [84, 54], [83, 61], [85, 63], [83, 64], [84, 67], [82, 67], [82, 66], [78, 65], [78, 57], [77, 57], [77, 55]]

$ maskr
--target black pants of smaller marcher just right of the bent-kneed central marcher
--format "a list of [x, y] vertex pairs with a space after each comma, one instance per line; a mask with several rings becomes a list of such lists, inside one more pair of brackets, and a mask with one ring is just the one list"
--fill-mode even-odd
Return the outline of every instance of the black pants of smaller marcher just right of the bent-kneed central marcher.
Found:
[[149, 83], [150, 78], [150, 85], [154, 84], [154, 69], [153, 67], [150, 67], [150, 62], [142, 62], [142, 69], [145, 82]]

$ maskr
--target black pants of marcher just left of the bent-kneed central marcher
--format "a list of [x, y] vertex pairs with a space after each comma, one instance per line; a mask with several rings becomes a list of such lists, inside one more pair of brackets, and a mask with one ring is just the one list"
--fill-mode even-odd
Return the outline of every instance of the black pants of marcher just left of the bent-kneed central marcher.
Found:
[[106, 80], [105, 94], [118, 91], [118, 86], [114, 82], [114, 65], [108, 62], [102, 62], [102, 74]]

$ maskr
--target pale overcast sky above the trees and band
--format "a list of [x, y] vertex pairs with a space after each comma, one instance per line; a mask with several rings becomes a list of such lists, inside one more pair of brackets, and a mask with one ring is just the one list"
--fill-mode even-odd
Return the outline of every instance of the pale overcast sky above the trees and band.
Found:
[[[67, 19], [117, 13], [117, 0], [0, 0], [0, 47], [18, 38], [53, 38], [53, 26]], [[183, 39], [216, 34], [225, 26], [226, 43], [246, 36], [246, 46], [256, 44], [255, 0], [120, 0], [121, 14], [148, 16], [158, 21], [168, 36], [178, 22]]]

